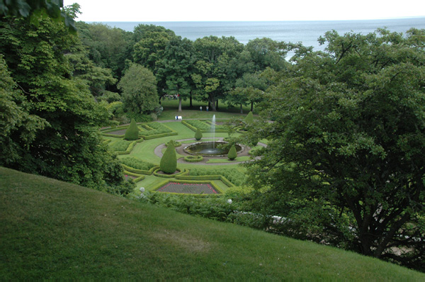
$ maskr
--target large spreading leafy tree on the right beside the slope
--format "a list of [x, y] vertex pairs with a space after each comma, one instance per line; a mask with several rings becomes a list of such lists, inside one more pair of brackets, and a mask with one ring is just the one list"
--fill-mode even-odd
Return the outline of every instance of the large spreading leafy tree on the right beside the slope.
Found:
[[286, 234], [424, 270], [425, 30], [320, 41], [268, 93], [251, 183]]

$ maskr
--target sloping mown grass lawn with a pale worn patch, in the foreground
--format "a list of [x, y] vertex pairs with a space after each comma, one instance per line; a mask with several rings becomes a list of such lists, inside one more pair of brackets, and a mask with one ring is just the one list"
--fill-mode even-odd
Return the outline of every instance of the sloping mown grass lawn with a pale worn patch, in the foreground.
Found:
[[0, 277], [425, 281], [378, 259], [0, 168]]

